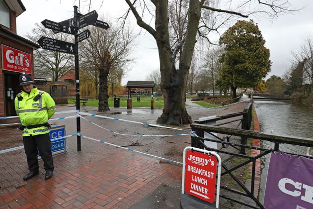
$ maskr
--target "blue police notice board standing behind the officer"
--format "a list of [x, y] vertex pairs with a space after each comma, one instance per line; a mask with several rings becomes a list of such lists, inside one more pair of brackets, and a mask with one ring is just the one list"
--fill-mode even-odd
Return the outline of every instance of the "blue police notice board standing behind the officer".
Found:
[[[65, 125], [51, 127], [49, 130], [52, 156], [66, 153]], [[39, 153], [38, 159], [41, 159]]]

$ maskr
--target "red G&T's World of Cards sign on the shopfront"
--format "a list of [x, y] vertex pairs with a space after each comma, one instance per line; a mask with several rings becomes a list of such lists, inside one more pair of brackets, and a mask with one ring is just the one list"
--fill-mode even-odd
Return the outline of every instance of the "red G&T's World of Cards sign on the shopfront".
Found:
[[2, 46], [2, 69], [14, 72], [31, 74], [30, 54], [5, 46]]

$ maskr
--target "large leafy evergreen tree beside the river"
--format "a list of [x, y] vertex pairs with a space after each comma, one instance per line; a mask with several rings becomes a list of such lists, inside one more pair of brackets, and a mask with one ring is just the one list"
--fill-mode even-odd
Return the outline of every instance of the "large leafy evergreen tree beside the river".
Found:
[[225, 47], [220, 83], [236, 89], [255, 87], [270, 71], [270, 52], [257, 24], [253, 20], [238, 20], [220, 38]]

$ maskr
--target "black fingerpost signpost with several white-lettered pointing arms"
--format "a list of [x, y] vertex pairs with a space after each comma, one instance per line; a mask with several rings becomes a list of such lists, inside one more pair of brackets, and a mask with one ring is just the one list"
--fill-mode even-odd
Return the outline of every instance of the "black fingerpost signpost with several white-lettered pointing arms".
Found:
[[[90, 31], [87, 29], [80, 34], [78, 30], [88, 25], [94, 25], [103, 29], [108, 29], [109, 25], [106, 22], [97, 20], [98, 14], [95, 10], [82, 15], [78, 13], [77, 6], [74, 6], [74, 18], [70, 18], [61, 22], [54, 22], [48, 19], [43, 20], [41, 23], [48, 29], [53, 30], [54, 33], [68, 33], [75, 37], [75, 43], [60, 41], [49, 37], [41, 37], [37, 42], [43, 49], [58, 51], [75, 56], [75, 84], [76, 84], [76, 110], [80, 110], [79, 104], [79, 68], [78, 68], [78, 42], [85, 40], [89, 37]], [[80, 133], [80, 117], [76, 119], [77, 132]], [[80, 136], [77, 135], [77, 150], [81, 150]]]

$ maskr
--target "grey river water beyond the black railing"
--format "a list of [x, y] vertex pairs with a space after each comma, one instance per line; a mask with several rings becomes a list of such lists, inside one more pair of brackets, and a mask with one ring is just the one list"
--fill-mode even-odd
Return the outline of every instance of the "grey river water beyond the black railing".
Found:
[[[306, 107], [281, 101], [254, 101], [254, 107], [259, 119], [260, 131], [278, 135], [307, 137], [313, 140], [313, 111]], [[313, 142], [312, 142], [313, 143]], [[264, 148], [274, 148], [274, 143], [261, 141]], [[307, 147], [280, 144], [279, 150], [305, 155]], [[310, 150], [313, 155], [313, 148]], [[260, 201], [263, 202], [264, 185], [270, 155], [261, 159]], [[263, 185], [263, 186], [262, 186]]]

